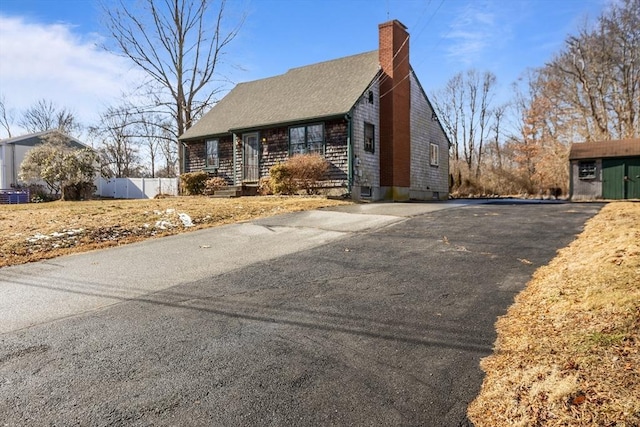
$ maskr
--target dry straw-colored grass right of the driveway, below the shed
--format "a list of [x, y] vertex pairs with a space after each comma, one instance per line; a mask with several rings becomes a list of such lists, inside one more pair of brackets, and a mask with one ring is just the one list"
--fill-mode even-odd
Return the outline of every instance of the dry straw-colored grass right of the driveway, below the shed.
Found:
[[640, 203], [610, 203], [497, 322], [477, 427], [640, 426]]

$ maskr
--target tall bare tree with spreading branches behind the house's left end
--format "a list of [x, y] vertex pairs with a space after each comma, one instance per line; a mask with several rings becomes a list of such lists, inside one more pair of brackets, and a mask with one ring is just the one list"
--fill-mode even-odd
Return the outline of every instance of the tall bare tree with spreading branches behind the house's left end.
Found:
[[[123, 0], [104, 5], [106, 27], [114, 50], [148, 76], [155, 100], [149, 107], [170, 115], [177, 139], [222, 89], [213, 85], [216, 69], [244, 18], [227, 27], [225, 0], [215, 6], [213, 0], [142, 0], [142, 5], [142, 11]], [[182, 150], [178, 157], [182, 168]]]

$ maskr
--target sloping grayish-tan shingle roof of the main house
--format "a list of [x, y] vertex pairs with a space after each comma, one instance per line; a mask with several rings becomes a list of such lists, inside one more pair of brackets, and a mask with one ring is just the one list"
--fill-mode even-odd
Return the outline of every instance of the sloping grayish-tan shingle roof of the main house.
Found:
[[379, 69], [376, 50], [240, 83], [180, 139], [346, 114]]

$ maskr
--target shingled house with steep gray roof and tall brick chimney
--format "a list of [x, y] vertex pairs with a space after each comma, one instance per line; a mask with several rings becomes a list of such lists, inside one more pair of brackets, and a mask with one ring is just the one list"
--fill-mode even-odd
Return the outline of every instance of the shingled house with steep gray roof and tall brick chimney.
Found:
[[356, 200], [449, 195], [449, 140], [409, 63], [409, 34], [379, 48], [240, 83], [181, 137], [185, 172], [256, 184], [301, 153], [329, 162], [325, 188]]

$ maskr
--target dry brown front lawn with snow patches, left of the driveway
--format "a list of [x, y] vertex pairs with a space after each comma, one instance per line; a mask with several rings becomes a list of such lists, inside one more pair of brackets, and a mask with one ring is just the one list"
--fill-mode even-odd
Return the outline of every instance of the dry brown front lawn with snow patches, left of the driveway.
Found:
[[196, 196], [0, 205], [0, 267], [347, 203], [325, 197]]

